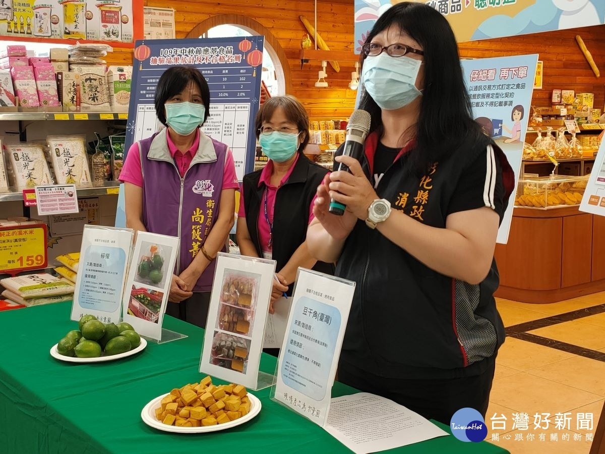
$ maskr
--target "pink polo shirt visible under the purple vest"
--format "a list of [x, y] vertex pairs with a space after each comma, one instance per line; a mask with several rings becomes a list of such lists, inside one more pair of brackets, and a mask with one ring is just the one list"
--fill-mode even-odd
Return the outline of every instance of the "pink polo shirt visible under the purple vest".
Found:
[[[166, 134], [166, 139], [168, 142], [168, 151], [174, 159], [178, 173], [182, 178], [185, 176], [185, 172], [189, 168], [189, 165], [191, 165], [195, 153], [197, 153], [198, 146], [200, 145], [200, 130], [197, 130], [191, 148], [185, 153], [178, 151], [177, 146], [174, 145], [169, 134]], [[139, 187], [143, 186], [143, 171], [141, 169], [141, 157], [139, 154], [139, 145], [137, 145], [137, 143], [133, 143], [128, 150], [128, 154], [126, 154], [126, 160], [122, 166], [122, 173], [120, 173], [120, 181], [132, 183]], [[240, 184], [238, 183], [237, 175], [235, 174], [233, 154], [231, 153], [231, 149], [227, 149], [223, 173], [223, 189], [239, 188]]]

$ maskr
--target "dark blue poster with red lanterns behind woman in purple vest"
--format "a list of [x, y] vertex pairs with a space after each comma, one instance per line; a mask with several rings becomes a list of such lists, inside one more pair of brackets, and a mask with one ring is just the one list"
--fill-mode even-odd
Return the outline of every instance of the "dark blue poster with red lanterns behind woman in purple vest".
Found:
[[210, 88], [204, 134], [231, 148], [238, 180], [254, 170], [264, 36], [137, 41], [125, 149], [160, 130], [155, 90], [169, 67], [194, 66]]

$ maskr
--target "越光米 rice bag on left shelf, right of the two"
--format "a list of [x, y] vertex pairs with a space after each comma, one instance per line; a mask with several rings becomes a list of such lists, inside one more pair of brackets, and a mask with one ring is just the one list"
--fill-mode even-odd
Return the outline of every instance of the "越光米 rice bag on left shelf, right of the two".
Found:
[[48, 136], [54, 176], [60, 185], [90, 186], [85, 136]]

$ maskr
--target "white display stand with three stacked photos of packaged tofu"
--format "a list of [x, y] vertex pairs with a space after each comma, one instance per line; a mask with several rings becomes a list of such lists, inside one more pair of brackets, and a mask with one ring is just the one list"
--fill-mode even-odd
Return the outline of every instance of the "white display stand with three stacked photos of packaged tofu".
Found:
[[217, 255], [200, 372], [253, 390], [273, 384], [258, 368], [274, 276], [275, 260]]

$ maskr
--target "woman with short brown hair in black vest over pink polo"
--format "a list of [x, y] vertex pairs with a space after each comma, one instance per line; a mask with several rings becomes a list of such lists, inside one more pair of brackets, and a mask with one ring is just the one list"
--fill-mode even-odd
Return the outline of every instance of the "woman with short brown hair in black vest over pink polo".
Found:
[[328, 171], [302, 153], [309, 143], [309, 116], [294, 97], [267, 99], [256, 128], [269, 161], [244, 176], [236, 237], [242, 255], [277, 262], [280, 281], [273, 282], [269, 306], [273, 313], [283, 292], [291, 294], [299, 266], [333, 274], [333, 265], [317, 262], [306, 243], [316, 189]]

